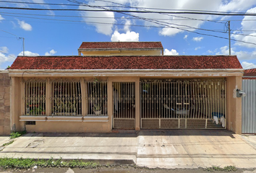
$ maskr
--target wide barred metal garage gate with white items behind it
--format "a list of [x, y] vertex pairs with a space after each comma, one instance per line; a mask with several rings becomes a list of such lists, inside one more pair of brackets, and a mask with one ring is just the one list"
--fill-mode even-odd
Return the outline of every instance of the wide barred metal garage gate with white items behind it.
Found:
[[226, 79], [140, 81], [141, 128], [226, 128]]

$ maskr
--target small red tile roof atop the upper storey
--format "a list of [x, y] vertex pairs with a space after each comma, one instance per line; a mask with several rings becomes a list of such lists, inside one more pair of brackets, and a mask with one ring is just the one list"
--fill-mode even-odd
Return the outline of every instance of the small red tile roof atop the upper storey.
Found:
[[80, 49], [127, 49], [127, 48], [148, 48], [163, 49], [161, 42], [83, 42]]

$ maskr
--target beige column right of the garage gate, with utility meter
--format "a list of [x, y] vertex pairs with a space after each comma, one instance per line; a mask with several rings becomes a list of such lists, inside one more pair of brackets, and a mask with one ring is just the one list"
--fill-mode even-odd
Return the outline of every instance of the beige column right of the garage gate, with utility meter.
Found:
[[227, 129], [242, 133], [242, 98], [236, 97], [236, 89], [242, 89], [242, 76], [227, 77]]

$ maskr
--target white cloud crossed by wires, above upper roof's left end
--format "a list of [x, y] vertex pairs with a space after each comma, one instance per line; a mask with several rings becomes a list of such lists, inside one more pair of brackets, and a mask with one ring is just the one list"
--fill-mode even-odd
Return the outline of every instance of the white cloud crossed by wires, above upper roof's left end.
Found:
[[[109, 3], [103, 1], [89, 1], [89, 5], [93, 6], [101, 6], [101, 5], [109, 5]], [[112, 5], [112, 4], [111, 4]], [[79, 6], [79, 9], [93, 9], [88, 6]], [[93, 25], [96, 27], [96, 31], [104, 34], [111, 35], [113, 32], [113, 26], [116, 20], [114, 19], [114, 12], [80, 12], [81, 16], [83, 16], [83, 20], [88, 22], [88, 25]], [[86, 18], [86, 17], [98, 17], [98, 18]], [[109, 18], [101, 18], [101, 17], [109, 17]], [[102, 23], [108, 23], [109, 25], [103, 25]]]

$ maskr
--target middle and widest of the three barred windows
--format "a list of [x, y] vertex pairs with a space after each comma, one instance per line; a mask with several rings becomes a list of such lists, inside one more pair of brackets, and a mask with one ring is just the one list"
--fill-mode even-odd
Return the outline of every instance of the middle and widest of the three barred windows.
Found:
[[51, 115], [82, 115], [80, 80], [59, 79], [51, 82]]

